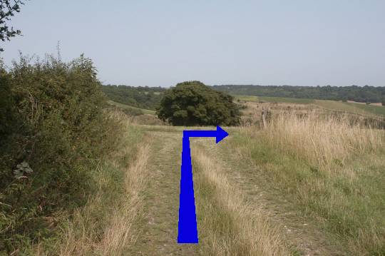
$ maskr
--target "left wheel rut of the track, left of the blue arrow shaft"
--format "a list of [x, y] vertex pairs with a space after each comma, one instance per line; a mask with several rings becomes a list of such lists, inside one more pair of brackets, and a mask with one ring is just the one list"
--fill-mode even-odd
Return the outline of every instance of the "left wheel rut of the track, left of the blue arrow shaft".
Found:
[[197, 255], [195, 245], [178, 245], [182, 133], [151, 131], [145, 220], [135, 255]]

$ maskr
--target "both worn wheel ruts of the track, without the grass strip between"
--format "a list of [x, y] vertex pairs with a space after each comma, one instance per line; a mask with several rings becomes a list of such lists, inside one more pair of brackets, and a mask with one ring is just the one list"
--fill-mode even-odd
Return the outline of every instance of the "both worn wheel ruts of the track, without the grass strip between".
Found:
[[[150, 174], [145, 190], [145, 218], [138, 225], [140, 235], [132, 254], [199, 255], [199, 245], [178, 245], [176, 242], [182, 133], [149, 131], [148, 135], [151, 141]], [[257, 166], [240, 159], [234, 150], [227, 148], [225, 141], [221, 145], [207, 142], [207, 139], [194, 139], [191, 147], [204, 150], [245, 195], [247, 203], [262, 210], [279, 227], [294, 255], [346, 255], [342, 245], [335, 244], [332, 236], [322, 229], [322, 220], [304, 217], [295, 203], [282, 195], [282, 191], [266, 183]]]

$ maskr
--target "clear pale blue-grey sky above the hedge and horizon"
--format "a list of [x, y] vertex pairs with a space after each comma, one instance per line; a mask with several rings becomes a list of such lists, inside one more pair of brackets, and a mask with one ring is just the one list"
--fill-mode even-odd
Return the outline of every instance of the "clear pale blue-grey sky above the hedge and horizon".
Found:
[[0, 46], [91, 58], [104, 84], [385, 86], [384, 0], [30, 0]]

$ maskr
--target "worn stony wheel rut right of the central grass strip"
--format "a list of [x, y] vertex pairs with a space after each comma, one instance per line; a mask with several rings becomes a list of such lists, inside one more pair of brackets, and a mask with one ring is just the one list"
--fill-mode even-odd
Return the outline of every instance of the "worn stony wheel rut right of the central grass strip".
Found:
[[319, 220], [304, 218], [296, 205], [258, 175], [257, 166], [235, 154], [237, 149], [227, 148], [225, 141], [220, 145], [211, 145], [198, 140], [197, 146], [219, 166], [230, 184], [244, 195], [247, 204], [262, 213], [279, 230], [287, 247], [292, 248], [292, 254], [344, 255], [342, 247], [333, 242], [332, 235], [319, 229]]

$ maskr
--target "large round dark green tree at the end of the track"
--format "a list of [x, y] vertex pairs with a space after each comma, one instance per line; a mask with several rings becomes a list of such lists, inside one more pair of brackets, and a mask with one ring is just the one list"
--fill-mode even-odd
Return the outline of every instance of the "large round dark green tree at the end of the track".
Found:
[[188, 81], [165, 92], [157, 113], [173, 126], [235, 126], [240, 111], [232, 100], [199, 81]]

